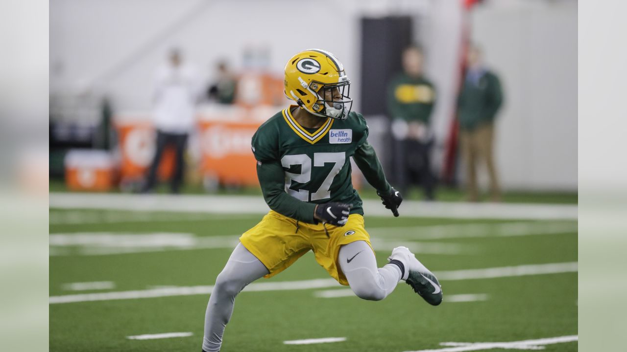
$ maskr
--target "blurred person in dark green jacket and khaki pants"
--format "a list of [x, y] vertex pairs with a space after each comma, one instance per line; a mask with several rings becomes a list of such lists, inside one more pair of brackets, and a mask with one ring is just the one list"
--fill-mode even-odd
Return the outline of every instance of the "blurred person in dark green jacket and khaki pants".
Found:
[[503, 103], [503, 92], [497, 75], [482, 61], [476, 45], [466, 53], [466, 77], [458, 97], [460, 145], [466, 164], [466, 200], [478, 201], [477, 165], [484, 163], [490, 178], [490, 200], [501, 199], [497, 168], [493, 157], [494, 122]]

